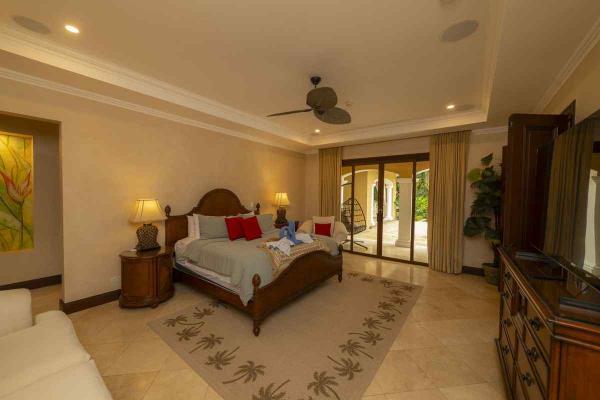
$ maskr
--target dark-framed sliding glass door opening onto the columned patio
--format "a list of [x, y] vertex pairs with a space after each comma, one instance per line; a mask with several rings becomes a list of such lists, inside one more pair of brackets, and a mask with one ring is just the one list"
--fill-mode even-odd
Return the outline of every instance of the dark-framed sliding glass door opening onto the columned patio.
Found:
[[428, 154], [344, 160], [344, 249], [427, 264]]

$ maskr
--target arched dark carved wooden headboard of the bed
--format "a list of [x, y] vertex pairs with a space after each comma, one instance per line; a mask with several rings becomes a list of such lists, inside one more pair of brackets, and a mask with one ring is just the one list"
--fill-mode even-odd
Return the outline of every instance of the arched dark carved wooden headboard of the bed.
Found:
[[[165, 207], [165, 246], [173, 247], [178, 240], [187, 237], [187, 218], [192, 214], [228, 216], [251, 212], [244, 207], [240, 199], [229, 189], [213, 189], [206, 193], [198, 205], [183, 215], [171, 215], [171, 207]], [[254, 214], [260, 214], [260, 203], [256, 204]]]

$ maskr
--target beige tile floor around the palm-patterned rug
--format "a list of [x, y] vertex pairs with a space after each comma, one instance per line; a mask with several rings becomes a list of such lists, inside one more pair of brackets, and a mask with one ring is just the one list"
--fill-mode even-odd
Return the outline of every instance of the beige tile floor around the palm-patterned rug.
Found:
[[[494, 337], [499, 296], [483, 278], [345, 254], [346, 270], [421, 285], [423, 293], [365, 393], [365, 400], [505, 399]], [[60, 287], [32, 292], [33, 309], [55, 309]], [[221, 397], [179, 358], [147, 322], [195, 303], [177, 285], [156, 309], [120, 309], [116, 302], [71, 314], [85, 348], [116, 400]]]

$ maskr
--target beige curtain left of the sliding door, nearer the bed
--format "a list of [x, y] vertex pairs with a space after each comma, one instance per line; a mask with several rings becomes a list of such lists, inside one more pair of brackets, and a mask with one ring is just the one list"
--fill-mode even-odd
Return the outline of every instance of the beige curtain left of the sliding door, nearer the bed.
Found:
[[340, 185], [342, 148], [319, 149], [319, 188], [322, 216], [333, 215], [340, 220]]

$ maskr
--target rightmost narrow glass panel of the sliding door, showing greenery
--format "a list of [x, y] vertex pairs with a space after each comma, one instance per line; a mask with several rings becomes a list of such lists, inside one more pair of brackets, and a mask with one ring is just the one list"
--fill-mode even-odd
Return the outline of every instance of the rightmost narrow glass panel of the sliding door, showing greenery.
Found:
[[415, 178], [415, 240], [413, 241], [413, 261], [429, 263], [427, 255], [429, 161], [419, 161], [416, 163]]

